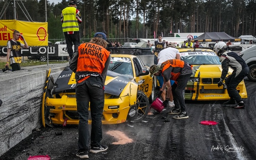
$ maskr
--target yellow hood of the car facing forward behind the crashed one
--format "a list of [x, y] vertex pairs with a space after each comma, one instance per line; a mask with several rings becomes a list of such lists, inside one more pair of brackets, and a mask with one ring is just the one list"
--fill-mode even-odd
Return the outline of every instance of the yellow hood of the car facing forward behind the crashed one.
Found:
[[[220, 77], [221, 72], [221, 65], [193, 65], [193, 74], [191, 77]], [[232, 73], [231, 68], [229, 68], [228, 73]]]

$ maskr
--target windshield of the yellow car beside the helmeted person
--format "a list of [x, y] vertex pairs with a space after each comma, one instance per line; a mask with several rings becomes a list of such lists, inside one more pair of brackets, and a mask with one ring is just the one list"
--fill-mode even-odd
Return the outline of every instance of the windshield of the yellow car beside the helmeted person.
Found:
[[221, 64], [220, 58], [211, 51], [182, 52], [181, 60], [192, 65]]

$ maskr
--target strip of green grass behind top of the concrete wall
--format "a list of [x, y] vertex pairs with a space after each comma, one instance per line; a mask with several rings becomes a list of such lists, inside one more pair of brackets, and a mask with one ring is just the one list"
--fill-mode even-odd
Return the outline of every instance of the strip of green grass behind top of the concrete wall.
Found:
[[[68, 61], [49, 61], [49, 64], [58, 64], [58, 63], [67, 63]], [[29, 66], [38, 66], [38, 65], [44, 65], [47, 64], [47, 62], [42, 62], [39, 60], [26, 60], [22, 61], [20, 64], [20, 67], [29, 67]], [[6, 62], [0, 62], [0, 69], [3, 69], [6, 65]], [[10, 65], [9, 68], [11, 69]]]

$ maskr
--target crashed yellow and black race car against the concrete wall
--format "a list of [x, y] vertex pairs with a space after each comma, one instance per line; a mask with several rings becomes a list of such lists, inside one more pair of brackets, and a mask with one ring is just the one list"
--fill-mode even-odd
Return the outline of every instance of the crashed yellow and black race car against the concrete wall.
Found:
[[[149, 68], [134, 55], [111, 54], [108, 69], [102, 124], [141, 122], [148, 114], [149, 101], [154, 99], [154, 83]], [[42, 104], [44, 127], [78, 124], [75, 86], [75, 74], [69, 66], [61, 72], [56, 82], [49, 71]]]

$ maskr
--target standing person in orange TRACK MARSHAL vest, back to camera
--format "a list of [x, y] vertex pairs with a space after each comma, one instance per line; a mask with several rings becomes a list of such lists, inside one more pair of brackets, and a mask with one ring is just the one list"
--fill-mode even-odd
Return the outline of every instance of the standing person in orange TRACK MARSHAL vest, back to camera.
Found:
[[[89, 158], [88, 151], [99, 153], [108, 149], [107, 145], [102, 145], [100, 142], [104, 107], [103, 90], [110, 63], [110, 52], [105, 49], [108, 45], [106, 40], [104, 33], [95, 33], [89, 43], [83, 43], [78, 47], [70, 63], [70, 69], [75, 73], [75, 96], [79, 114], [79, 150], [76, 156], [81, 159]], [[89, 102], [92, 118], [91, 141], [88, 126]]]

